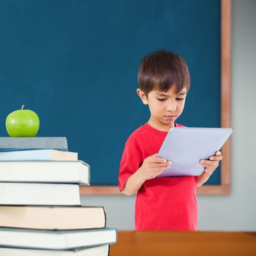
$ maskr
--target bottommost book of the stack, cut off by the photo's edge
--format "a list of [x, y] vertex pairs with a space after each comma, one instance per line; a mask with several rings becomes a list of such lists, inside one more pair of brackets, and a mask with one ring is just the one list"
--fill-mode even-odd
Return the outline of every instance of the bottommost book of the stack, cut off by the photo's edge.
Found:
[[108, 256], [109, 247], [109, 245], [104, 245], [86, 249], [76, 249], [75, 251], [0, 248], [0, 256]]

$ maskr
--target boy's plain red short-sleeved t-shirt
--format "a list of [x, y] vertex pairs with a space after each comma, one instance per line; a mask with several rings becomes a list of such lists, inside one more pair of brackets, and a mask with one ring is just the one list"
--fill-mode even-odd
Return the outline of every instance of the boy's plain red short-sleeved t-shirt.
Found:
[[[176, 124], [176, 127], [184, 127]], [[132, 132], [124, 146], [118, 187], [143, 160], [157, 154], [167, 132], [144, 124]], [[135, 203], [136, 230], [197, 230], [197, 176], [151, 178], [140, 187]]]

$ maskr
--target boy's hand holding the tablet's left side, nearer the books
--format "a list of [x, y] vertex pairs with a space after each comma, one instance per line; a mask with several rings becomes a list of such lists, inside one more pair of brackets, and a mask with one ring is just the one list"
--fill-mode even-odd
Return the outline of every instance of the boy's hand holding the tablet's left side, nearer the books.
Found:
[[157, 157], [157, 154], [154, 154], [144, 159], [143, 165], [140, 166], [139, 171], [143, 178], [148, 180], [157, 177], [165, 169], [170, 168], [171, 165], [172, 162]]

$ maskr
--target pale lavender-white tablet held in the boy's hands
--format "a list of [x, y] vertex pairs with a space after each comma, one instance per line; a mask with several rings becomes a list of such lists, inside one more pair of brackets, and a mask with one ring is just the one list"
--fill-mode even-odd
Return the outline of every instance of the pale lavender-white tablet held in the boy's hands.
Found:
[[199, 176], [204, 170], [200, 159], [216, 154], [232, 132], [231, 128], [170, 129], [157, 156], [170, 160], [173, 165], [157, 177]]

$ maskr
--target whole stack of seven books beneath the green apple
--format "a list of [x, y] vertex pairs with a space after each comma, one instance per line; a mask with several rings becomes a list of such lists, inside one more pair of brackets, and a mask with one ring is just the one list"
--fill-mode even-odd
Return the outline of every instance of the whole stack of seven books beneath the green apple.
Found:
[[67, 138], [0, 138], [0, 256], [109, 255], [104, 208], [80, 205], [89, 183]]

